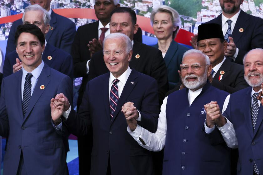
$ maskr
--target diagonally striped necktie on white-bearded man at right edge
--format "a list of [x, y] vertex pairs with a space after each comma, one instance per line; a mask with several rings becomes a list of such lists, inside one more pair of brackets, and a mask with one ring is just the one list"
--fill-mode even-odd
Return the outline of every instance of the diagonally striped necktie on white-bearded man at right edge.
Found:
[[[253, 103], [251, 106], [251, 118], [252, 118], [252, 125], [253, 125], [254, 130], [255, 130], [255, 125], [256, 125], [258, 110], [259, 110], [257, 96], [258, 96], [258, 93], [253, 94], [253, 96], [252, 96]], [[255, 161], [254, 161], [254, 172], [256, 174], [259, 174], [259, 171], [258, 171], [258, 168], [257, 168]]]

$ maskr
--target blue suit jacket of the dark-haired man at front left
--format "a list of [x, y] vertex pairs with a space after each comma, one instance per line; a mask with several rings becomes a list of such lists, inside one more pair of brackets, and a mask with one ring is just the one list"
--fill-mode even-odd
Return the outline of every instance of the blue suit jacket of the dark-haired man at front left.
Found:
[[[68, 134], [63, 125], [61, 131], [53, 127], [50, 99], [65, 93], [71, 102], [71, 79], [44, 65], [25, 116], [21, 80], [22, 70], [19, 70], [4, 78], [1, 87], [0, 135], [8, 137], [3, 174], [17, 173], [22, 152], [28, 174], [67, 174]], [[41, 85], [45, 87], [43, 90]]]

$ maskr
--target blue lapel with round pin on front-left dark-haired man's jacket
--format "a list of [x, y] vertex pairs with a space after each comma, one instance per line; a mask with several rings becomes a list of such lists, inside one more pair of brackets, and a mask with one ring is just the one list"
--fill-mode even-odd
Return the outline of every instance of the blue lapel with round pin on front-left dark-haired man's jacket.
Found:
[[39, 97], [42, 95], [42, 93], [45, 91], [45, 89], [40, 89], [40, 86], [44, 85], [45, 87], [48, 86], [49, 84], [49, 78], [48, 76], [50, 75], [50, 68], [47, 65], [44, 65], [44, 68], [42, 69], [38, 81], [36, 83], [35, 89], [33, 91], [33, 94], [31, 95], [27, 112], [24, 116], [24, 122], [28, 118], [29, 113], [32, 111], [34, 105], [37, 103]]

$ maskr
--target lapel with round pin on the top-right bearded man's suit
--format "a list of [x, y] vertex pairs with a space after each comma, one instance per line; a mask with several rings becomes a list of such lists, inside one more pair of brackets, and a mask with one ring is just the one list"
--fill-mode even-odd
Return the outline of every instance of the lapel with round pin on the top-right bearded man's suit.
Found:
[[248, 15], [245, 14], [245, 12], [243, 12], [241, 10], [240, 14], [239, 14], [239, 16], [237, 18], [237, 21], [235, 23], [235, 27], [233, 29], [232, 35], [231, 35], [231, 37], [234, 38], [234, 42], [235, 43], [238, 43], [239, 39], [242, 37], [242, 35], [244, 33], [244, 32], [240, 32], [239, 29], [243, 28], [244, 29], [243, 31], [248, 30], [249, 22], [246, 22], [248, 19], [249, 19]]

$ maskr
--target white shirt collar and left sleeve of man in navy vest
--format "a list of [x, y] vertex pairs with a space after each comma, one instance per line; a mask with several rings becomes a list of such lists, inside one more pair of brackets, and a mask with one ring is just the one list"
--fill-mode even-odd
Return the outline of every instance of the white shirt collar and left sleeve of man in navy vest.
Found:
[[[189, 106], [193, 103], [194, 99], [201, 93], [202, 88], [197, 91], [188, 91], [188, 101]], [[137, 128], [132, 132], [129, 127], [127, 127], [128, 133], [139, 143], [143, 148], [146, 148], [150, 151], [161, 151], [165, 145], [166, 139], [166, 104], [168, 97], [164, 98], [163, 104], [161, 106], [161, 113], [158, 118], [157, 131], [155, 133], [151, 133], [145, 128], [142, 128], [140, 125], [137, 125]], [[225, 105], [224, 105], [225, 106]], [[141, 138], [146, 145], [143, 145], [139, 140]]]

